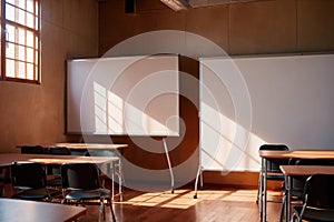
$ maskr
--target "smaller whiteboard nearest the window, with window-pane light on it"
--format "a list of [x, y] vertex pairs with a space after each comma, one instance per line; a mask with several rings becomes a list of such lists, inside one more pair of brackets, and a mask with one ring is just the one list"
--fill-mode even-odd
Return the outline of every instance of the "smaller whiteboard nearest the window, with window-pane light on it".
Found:
[[178, 135], [178, 56], [67, 61], [67, 133]]

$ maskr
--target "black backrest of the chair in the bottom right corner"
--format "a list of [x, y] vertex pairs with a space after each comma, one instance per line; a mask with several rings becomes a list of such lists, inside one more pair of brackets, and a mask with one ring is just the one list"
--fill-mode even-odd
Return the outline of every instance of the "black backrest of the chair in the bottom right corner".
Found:
[[334, 175], [314, 174], [306, 180], [307, 206], [334, 210]]

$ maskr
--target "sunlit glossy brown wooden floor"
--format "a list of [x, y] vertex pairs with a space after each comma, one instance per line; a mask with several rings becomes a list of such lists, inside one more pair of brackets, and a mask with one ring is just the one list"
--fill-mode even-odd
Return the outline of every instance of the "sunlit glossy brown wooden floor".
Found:
[[[144, 193], [126, 190], [124, 200], [115, 200], [114, 209], [118, 222], [257, 222], [257, 190], [230, 188], [205, 188], [194, 199], [194, 190], [177, 189], [175, 193]], [[281, 199], [279, 192], [269, 196]], [[278, 221], [281, 203], [268, 203], [267, 221]], [[111, 221], [107, 209], [107, 220]], [[98, 221], [98, 206], [88, 206], [87, 214], [78, 222]]]

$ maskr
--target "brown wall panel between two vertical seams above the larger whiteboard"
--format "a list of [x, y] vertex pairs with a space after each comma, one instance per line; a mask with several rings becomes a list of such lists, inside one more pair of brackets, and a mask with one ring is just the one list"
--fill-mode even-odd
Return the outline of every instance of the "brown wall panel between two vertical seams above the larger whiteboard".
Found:
[[292, 0], [230, 4], [229, 53], [296, 51], [296, 3]]

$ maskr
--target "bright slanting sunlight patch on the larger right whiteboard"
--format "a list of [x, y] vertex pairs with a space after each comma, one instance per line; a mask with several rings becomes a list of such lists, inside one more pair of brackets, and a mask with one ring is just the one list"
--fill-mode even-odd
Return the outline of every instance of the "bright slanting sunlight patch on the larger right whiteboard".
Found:
[[[224, 115], [216, 109], [202, 103], [202, 163], [206, 170], [258, 171], [259, 145], [266, 143], [254, 133]], [[238, 131], [238, 134], [236, 132]], [[248, 140], [244, 148], [239, 141]]]

